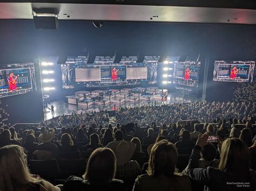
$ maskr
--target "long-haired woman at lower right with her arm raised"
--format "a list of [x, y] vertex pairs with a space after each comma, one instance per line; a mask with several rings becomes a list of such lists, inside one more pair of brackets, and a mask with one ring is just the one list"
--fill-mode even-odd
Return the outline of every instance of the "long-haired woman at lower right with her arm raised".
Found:
[[208, 190], [241, 190], [237, 184], [229, 182], [247, 182], [242, 190], [255, 190], [256, 174], [250, 171], [250, 152], [247, 145], [238, 138], [227, 138], [220, 152], [219, 168], [199, 168], [200, 150], [207, 144], [208, 135], [198, 138], [190, 160], [188, 174], [197, 182], [204, 183]]

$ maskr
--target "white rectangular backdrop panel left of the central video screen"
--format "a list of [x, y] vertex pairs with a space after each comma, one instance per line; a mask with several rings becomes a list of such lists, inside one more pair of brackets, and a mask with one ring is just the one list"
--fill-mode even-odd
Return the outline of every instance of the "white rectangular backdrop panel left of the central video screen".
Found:
[[76, 68], [76, 82], [100, 81], [100, 68]]

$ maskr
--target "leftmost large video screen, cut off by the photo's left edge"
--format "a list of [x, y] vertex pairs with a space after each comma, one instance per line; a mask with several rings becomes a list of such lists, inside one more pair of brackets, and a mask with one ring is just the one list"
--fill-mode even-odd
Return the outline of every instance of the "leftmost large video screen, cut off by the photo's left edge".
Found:
[[0, 97], [25, 94], [36, 90], [33, 63], [0, 65]]

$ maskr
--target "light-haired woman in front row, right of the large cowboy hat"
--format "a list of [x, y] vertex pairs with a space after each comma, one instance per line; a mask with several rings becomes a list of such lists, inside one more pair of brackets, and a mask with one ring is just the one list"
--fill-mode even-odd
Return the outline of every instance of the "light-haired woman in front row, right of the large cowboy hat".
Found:
[[187, 175], [176, 173], [178, 152], [176, 147], [161, 140], [154, 144], [149, 159], [147, 174], [139, 175], [135, 180], [133, 191], [154, 190], [191, 190]]

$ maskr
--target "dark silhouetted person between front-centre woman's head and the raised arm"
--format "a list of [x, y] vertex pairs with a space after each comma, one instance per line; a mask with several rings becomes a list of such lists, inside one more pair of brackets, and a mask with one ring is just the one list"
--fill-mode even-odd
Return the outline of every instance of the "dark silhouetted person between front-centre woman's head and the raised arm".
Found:
[[179, 154], [191, 154], [193, 143], [190, 139], [190, 133], [183, 130], [180, 135], [180, 141], [175, 143]]

